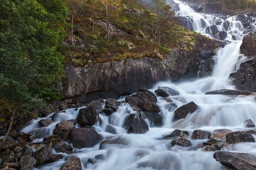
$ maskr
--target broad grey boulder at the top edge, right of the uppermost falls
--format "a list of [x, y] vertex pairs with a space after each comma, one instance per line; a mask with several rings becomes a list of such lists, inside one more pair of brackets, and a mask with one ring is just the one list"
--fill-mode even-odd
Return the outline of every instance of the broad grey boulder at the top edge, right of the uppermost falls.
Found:
[[198, 7], [198, 11], [206, 14], [214, 14], [222, 11], [222, 5], [220, 2], [216, 3], [204, 3]]

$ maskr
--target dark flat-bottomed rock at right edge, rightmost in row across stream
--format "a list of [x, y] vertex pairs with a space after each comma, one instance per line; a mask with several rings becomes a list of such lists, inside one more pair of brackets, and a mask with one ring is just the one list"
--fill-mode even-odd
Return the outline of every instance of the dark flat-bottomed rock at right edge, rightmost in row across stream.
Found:
[[243, 131], [231, 132], [226, 135], [227, 143], [255, 142], [254, 137]]

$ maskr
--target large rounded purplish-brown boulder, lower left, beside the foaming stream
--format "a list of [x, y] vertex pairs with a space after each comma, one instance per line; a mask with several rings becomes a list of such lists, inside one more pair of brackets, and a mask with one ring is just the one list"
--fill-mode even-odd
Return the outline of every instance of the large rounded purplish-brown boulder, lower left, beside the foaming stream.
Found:
[[75, 148], [91, 148], [101, 139], [100, 135], [92, 128], [73, 129], [70, 138]]

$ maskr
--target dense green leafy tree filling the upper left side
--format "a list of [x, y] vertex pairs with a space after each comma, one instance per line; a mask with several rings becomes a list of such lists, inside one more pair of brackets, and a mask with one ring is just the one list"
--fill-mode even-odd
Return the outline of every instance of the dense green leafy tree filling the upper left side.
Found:
[[67, 14], [62, 0], [0, 0], [0, 98], [12, 111], [6, 136], [16, 113], [46, 106], [44, 88], [61, 77]]

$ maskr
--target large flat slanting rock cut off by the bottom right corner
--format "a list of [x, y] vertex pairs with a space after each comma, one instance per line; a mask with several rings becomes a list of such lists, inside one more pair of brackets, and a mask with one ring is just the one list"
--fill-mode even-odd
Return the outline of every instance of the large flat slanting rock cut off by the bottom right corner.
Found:
[[256, 157], [250, 154], [218, 151], [214, 158], [221, 164], [237, 170], [256, 169]]

